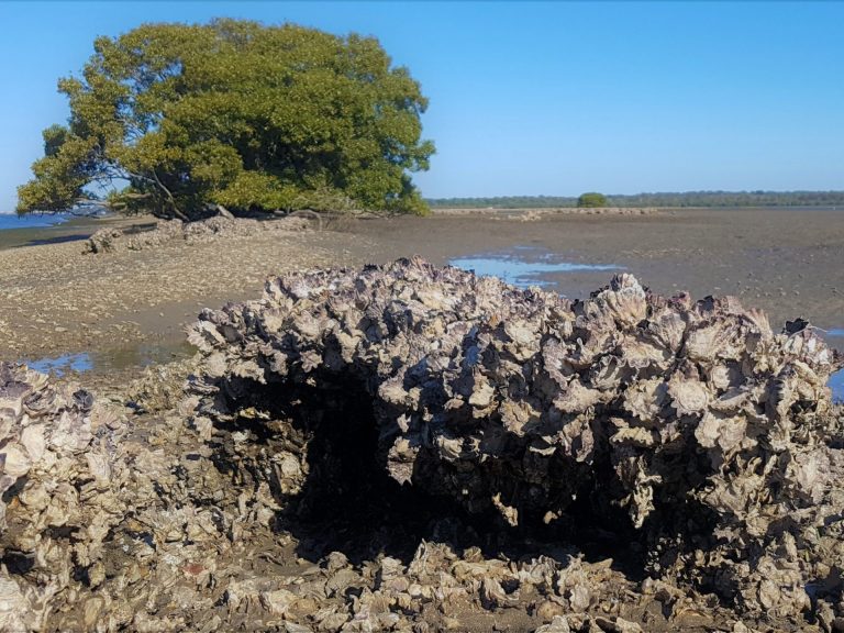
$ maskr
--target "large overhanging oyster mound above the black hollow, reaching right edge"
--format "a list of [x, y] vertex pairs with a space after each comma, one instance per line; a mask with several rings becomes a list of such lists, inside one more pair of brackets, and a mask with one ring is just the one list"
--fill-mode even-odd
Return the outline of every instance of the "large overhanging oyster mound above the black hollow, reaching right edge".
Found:
[[654, 577], [747, 612], [842, 612], [825, 386], [842, 358], [802, 321], [774, 333], [733, 298], [663, 298], [626, 274], [570, 302], [404, 259], [274, 279], [189, 338], [200, 425], [364, 393], [345, 423], [367, 417], [403, 487], [560, 535], [623, 511]]

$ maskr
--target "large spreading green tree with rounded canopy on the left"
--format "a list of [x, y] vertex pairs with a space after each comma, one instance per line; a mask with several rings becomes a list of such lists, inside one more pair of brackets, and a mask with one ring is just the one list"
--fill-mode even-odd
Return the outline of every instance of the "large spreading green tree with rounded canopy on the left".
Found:
[[215, 20], [93, 47], [80, 77], [59, 80], [70, 118], [44, 131], [19, 213], [104, 201], [184, 219], [213, 204], [425, 210], [409, 173], [434, 152], [421, 140], [427, 100], [373, 37]]

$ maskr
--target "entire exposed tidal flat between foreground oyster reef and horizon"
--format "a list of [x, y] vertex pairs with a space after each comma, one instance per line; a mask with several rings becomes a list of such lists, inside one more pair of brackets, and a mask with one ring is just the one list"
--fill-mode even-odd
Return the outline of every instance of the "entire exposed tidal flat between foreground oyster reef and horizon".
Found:
[[[270, 275], [413, 254], [445, 264], [514, 246], [623, 266], [660, 293], [735, 295], [766, 310], [776, 327], [796, 316], [824, 329], [844, 326], [841, 212], [680, 210], [530, 222], [437, 215], [103, 255], [82, 255], [79, 241], [7, 248], [0, 251], [0, 359], [112, 351], [131, 366], [137, 359], [126, 349], [178, 347], [184, 325], [202, 307], [257, 297]], [[576, 298], [610, 275], [565, 273], [558, 280]]]

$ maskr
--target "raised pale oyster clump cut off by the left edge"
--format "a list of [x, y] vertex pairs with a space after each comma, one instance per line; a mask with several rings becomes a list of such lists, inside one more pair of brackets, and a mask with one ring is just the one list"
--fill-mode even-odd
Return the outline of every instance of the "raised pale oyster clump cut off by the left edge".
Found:
[[102, 567], [125, 509], [111, 485], [119, 440], [88, 391], [0, 363], [0, 631], [42, 630], [73, 570]]

